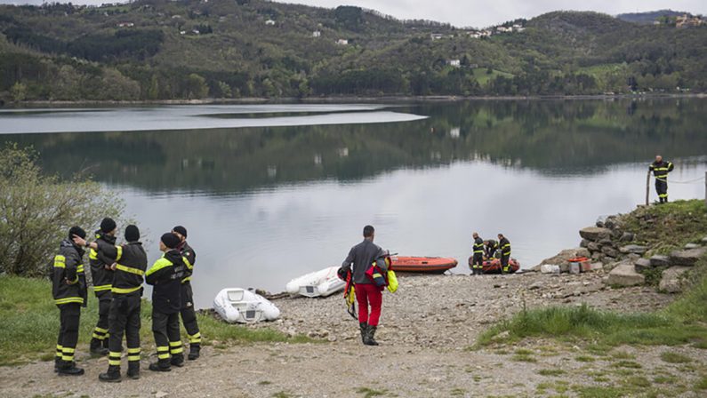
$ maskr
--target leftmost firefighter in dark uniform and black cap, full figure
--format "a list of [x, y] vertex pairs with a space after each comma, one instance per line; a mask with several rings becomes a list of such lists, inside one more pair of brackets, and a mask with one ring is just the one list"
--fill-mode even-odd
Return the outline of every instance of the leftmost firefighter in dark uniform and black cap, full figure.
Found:
[[62, 376], [84, 374], [84, 370], [77, 368], [74, 362], [81, 307], [86, 306], [87, 299], [84, 250], [71, 240], [75, 235], [86, 237], [82, 228], [71, 227], [68, 230], [68, 239], [60, 243], [59, 254], [54, 256], [52, 267], [52, 297], [60, 311], [54, 370]]

